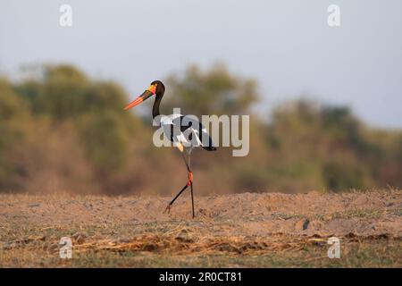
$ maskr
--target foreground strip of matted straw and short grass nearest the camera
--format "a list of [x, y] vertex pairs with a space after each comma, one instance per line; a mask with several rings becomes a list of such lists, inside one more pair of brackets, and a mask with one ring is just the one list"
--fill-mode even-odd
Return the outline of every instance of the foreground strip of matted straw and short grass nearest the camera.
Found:
[[187, 238], [147, 234], [130, 240], [81, 240], [72, 259], [60, 259], [58, 241], [15, 240], [1, 251], [3, 266], [17, 267], [402, 267], [402, 241], [386, 237], [341, 238], [341, 259], [326, 255], [327, 238]]

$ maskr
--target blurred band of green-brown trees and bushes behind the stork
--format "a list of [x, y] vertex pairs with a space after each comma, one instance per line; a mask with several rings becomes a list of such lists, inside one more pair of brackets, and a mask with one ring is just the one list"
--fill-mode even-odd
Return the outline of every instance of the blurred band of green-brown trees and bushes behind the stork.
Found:
[[[276, 106], [265, 122], [251, 112], [259, 104], [256, 81], [222, 63], [206, 71], [190, 66], [164, 81], [163, 114], [175, 106], [183, 114], [251, 114], [249, 156], [232, 157], [225, 147], [195, 152], [198, 193], [402, 187], [401, 130], [375, 129], [347, 106], [308, 99]], [[90, 79], [71, 65], [0, 79], [0, 191], [179, 189], [187, 174], [178, 151], [154, 147], [150, 112], [124, 112], [128, 102], [118, 83]]]

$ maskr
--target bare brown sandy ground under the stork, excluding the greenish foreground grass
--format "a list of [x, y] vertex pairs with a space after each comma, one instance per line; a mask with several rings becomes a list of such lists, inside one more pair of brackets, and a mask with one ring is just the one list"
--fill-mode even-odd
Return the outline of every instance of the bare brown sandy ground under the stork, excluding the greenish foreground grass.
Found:
[[402, 234], [402, 191], [398, 189], [196, 197], [195, 219], [188, 194], [176, 201], [170, 214], [163, 214], [170, 199], [2, 195], [3, 265], [29, 261], [26, 257], [15, 260], [21, 249], [39, 247], [49, 254], [57, 250], [62, 236], [71, 236], [75, 248], [82, 251], [261, 254], [300, 249], [302, 242], [326, 244], [331, 236], [400, 241]]

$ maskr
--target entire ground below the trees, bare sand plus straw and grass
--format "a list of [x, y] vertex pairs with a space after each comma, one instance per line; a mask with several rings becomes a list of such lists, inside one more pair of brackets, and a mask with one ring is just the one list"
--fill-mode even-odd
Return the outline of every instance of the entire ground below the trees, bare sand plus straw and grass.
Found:
[[[402, 267], [401, 202], [398, 190], [219, 196], [198, 199], [192, 220], [186, 202], [161, 214], [162, 198], [2, 196], [0, 266]], [[59, 257], [64, 236], [72, 259]]]

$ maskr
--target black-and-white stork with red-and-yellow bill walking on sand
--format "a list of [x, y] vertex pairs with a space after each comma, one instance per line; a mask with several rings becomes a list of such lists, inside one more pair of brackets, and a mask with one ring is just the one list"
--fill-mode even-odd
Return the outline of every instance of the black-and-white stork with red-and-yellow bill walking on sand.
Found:
[[[183, 158], [184, 164], [186, 164], [188, 171], [188, 181], [186, 185], [180, 189], [179, 193], [172, 199], [164, 212], [170, 212], [174, 201], [179, 198], [185, 189], [190, 187], [191, 189], [191, 206], [193, 212], [193, 218], [195, 217], [194, 212], [194, 195], [193, 195], [193, 173], [190, 169], [190, 156], [193, 148], [203, 147], [207, 151], [214, 151], [216, 147], [212, 142], [211, 137], [207, 133], [205, 127], [194, 119], [192, 116], [181, 115], [181, 114], [171, 114], [171, 115], [161, 115], [159, 111], [159, 105], [161, 104], [162, 97], [164, 95], [164, 85], [162, 81], [155, 80], [151, 83], [149, 88], [135, 100], [130, 102], [124, 110], [129, 110], [130, 108], [139, 105], [140, 103], [147, 100], [147, 98], [155, 96], [154, 106], [152, 107], [152, 117], [159, 126], [163, 128], [164, 135], [170, 139], [173, 146], [178, 147], [180, 154]], [[187, 153], [184, 155], [184, 151]]]

